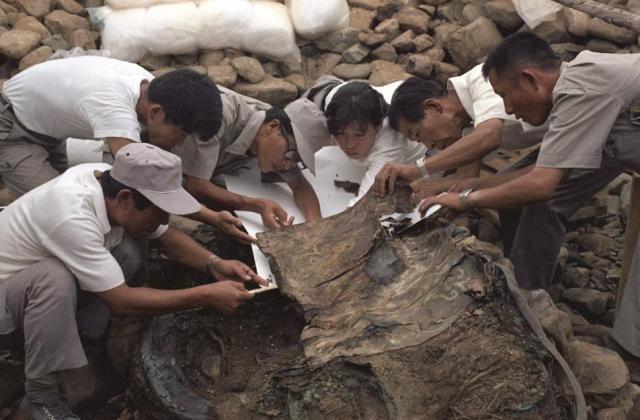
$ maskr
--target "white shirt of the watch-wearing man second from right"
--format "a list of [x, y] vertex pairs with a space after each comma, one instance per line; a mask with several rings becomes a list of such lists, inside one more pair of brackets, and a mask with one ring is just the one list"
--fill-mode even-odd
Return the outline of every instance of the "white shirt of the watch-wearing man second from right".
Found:
[[494, 92], [491, 83], [482, 76], [482, 64], [478, 64], [461, 76], [449, 79], [462, 106], [473, 121], [474, 127], [490, 119], [504, 120], [501, 146], [517, 150], [540, 143], [547, 125], [533, 127], [515, 116], [507, 114], [502, 98]]

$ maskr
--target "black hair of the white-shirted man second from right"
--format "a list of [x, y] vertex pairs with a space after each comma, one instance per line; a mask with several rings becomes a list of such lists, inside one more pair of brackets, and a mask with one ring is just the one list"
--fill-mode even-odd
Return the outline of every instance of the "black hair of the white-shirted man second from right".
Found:
[[408, 78], [393, 93], [389, 106], [389, 125], [397, 131], [400, 118], [412, 123], [420, 121], [424, 118], [422, 103], [428, 99], [441, 98], [443, 94], [436, 82], [418, 77]]

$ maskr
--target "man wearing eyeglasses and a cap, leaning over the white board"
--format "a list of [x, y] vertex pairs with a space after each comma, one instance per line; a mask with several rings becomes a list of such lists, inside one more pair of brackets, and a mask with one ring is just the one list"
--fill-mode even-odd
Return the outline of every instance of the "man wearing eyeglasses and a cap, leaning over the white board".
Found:
[[321, 218], [318, 198], [302, 169], [315, 173], [315, 152], [330, 138], [322, 113], [306, 99], [282, 110], [219, 89], [222, 126], [218, 134], [208, 142], [187, 138], [173, 150], [182, 158], [187, 191], [214, 208], [259, 213], [268, 228], [288, 226], [291, 219], [278, 203], [233, 193], [211, 182], [219, 175], [236, 173], [256, 158], [263, 181], [286, 182], [306, 221]]

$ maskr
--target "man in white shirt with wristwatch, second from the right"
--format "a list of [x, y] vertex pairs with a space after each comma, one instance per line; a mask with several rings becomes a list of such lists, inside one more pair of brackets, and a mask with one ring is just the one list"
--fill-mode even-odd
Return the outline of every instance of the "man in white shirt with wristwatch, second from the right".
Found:
[[[443, 93], [434, 82], [412, 77], [397, 90], [389, 107], [391, 127], [411, 140], [442, 150], [412, 165], [387, 164], [375, 191], [393, 191], [397, 178], [416, 181], [479, 161], [498, 147], [521, 149], [540, 142], [545, 127], [532, 127], [504, 110], [502, 98], [482, 77], [482, 65], [452, 77]], [[436, 181], [439, 182], [439, 181]]]

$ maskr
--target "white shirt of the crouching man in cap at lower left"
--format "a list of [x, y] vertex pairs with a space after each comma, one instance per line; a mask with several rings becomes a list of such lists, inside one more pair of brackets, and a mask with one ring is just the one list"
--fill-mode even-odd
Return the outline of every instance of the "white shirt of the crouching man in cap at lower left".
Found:
[[[87, 163], [23, 195], [0, 213], [0, 282], [47, 257], [58, 258], [78, 279], [80, 288], [102, 292], [124, 283], [109, 250], [123, 229], [111, 226], [95, 171], [111, 169]], [[149, 239], [167, 230], [160, 226]]]

